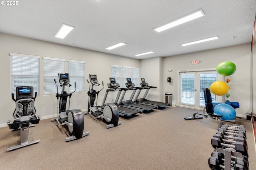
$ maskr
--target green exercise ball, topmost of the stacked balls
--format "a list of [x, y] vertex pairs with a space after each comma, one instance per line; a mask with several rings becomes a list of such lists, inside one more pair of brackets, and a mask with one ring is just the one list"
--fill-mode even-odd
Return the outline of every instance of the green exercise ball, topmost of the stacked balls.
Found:
[[230, 61], [223, 61], [216, 66], [216, 71], [222, 76], [230, 76], [236, 71], [236, 65]]

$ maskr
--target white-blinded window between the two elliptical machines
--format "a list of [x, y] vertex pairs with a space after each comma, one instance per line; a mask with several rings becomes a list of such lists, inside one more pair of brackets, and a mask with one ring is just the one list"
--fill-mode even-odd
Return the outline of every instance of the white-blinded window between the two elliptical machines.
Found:
[[74, 92], [76, 82], [76, 92], [85, 92], [85, 62], [68, 60], [68, 73], [70, 77], [69, 92]]

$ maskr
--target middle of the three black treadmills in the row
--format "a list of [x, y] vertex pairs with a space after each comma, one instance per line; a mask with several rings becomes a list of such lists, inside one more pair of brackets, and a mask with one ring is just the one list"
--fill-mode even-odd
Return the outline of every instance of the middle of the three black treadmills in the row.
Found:
[[130, 100], [125, 100], [122, 101], [122, 99], [124, 98], [124, 95], [126, 93], [126, 91], [123, 92], [121, 99], [119, 100], [119, 104], [120, 105], [124, 105], [124, 106], [130, 106], [130, 107], [137, 107], [143, 110], [143, 112], [150, 112], [152, 111], [152, 109], [156, 109], [157, 106], [156, 105], [150, 105], [150, 104], [140, 104], [138, 102], [134, 102], [132, 101], [132, 98], [136, 92], [137, 89], [139, 89], [138, 87], [134, 87], [135, 84], [132, 83], [131, 78], [126, 78], [127, 83], [125, 84], [126, 87], [128, 88], [128, 90], [133, 90], [132, 95], [130, 97]]

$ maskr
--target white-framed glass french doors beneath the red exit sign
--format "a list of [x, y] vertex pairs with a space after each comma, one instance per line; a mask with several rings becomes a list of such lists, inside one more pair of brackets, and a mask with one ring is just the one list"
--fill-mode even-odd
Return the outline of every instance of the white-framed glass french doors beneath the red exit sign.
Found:
[[[216, 71], [180, 72], [179, 104], [180, 106], [202, 109], [205, 107], [204, 89], [219, 79]], [[212, 94], [212, 102], [220, 98]]]

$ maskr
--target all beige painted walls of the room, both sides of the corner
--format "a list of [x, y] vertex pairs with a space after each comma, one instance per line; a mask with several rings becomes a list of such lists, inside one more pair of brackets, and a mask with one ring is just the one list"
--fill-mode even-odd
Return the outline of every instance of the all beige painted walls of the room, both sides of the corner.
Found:
[[[10, 94], [9, 53], [41, 56], [40, 96], [36, 98], [35, 107], [37, 115], [40, 115], [42, 119], [52, 118], [57, 114], [55, 95], [43, 95], [42, 56], [85, 61], [86, 79], [88, 74], [97, 74], [98, 80], [105, 82], [105, 89], [111, 75], [111, 65], [139, 67], [140, 77], [145, 78], [150, 86], [157, 86], [157, 89], [150, 90], [147, 97], [149, 100], [156, 101], [164, 101], [165, 92], [172, 92], [172, 100], [177, 100], [178, 70], [215, 68], [222, 61], [232, 61], [236, 64], [237, 70], [229, 77], [229, 100], [239, 102], [240, 108], [236, 109], [238, 116], [244, 117], [246, 112], [250, 112], [251, 108], [252, 60], [250, 43], [171, 57], [137, 60], [0, 33], [0, 127], [6, 126], [8, 120], [13, 120], [12, 113], [15, 108]], [[201, 63], [191, 64], [192, 60], [200, 60]], [[172, 72], [168, 70], [172, 70]], [[172, 77], [171, 83], [167, 82], [168, 76]], [[89, 88], [87, 82], [85, 88], [86, 92], [73, 94], [70, 109], [80, 108], [83, 111], [87, 109], [87, 91]], [[256, 91], [255, 88], [254, 91]], [[116, 92], [109, 94], [106, 102], [111, 102], [112, 99], [115, 100], [116, 94]], [[129, 98], [130, 94], [131, 92], [127, 92], [125, 99]], [[143, 94], [144, 92], [140, 97]], [[103, 96], [104, 90], [99, 94], [98, 104], [101, 104]]]

